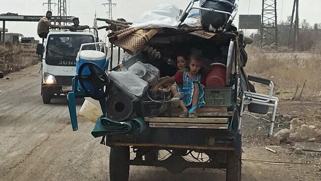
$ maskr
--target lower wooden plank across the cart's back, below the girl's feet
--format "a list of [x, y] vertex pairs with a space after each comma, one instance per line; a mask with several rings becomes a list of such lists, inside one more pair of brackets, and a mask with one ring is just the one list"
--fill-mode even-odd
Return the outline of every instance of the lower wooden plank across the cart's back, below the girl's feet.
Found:
[[166, 127], [166, 128], [201, 128], [201, 129], [227, 129], [227, 124], [198, 124], [198, 123], [164, 123], [150, 122], [149, 127]]

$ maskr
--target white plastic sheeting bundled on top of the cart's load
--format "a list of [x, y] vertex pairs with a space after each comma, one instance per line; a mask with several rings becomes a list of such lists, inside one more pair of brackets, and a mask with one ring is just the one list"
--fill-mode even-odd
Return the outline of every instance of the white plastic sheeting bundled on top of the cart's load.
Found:
[[[176, 28], [183, 10], [173, 4], [161, 4], [150, 11], [143, 12], [132, 24], [134, 28]], [[198, 11], [191, 11], [198, 13]], [[184, 24], [198, 25], [200, 19], [186, 18]]]

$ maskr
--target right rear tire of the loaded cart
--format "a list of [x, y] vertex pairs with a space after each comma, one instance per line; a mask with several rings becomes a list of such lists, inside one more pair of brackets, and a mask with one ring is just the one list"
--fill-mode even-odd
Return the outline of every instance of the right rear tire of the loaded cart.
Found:
[[226, 181], [241, 181], [241, 155], [237, 151], [227, 154]]

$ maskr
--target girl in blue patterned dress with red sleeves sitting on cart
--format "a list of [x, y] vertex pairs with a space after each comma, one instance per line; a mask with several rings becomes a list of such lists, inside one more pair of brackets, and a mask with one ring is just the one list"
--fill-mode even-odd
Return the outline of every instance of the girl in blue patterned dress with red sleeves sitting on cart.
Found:
[[[196, 108], [205, 105], [203, 90], [205, 76], [201, 75], [201, 70], [206, 67], [206, 62], [207, 60], [201, 55], [193, 54], [188, 60], [188, 70], [177, 72], [174, 76], [164, 79], [152, 89], [152, 92], [156, 93], [159, 86], [176, 82], [179, 92], [176, 94], [180, 95], [180, 107], [183, 110], [179, 118], [198, 118]], [[171, 90], [173, 91], [173, 89]], [[187, 107], [191, 106], [192, 108], [188, 110]]]

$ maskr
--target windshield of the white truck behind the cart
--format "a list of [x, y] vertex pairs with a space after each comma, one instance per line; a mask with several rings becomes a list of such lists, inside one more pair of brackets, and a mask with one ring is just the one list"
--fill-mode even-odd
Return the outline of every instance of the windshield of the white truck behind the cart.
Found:
[[[76, 57], [82, 43], [93, 43], [92, 35], [52, 34], [48, 37], [47, 57]], [[83, 50], [96, 50], [95, 45], [84, 46]]]

